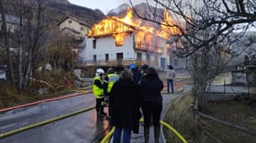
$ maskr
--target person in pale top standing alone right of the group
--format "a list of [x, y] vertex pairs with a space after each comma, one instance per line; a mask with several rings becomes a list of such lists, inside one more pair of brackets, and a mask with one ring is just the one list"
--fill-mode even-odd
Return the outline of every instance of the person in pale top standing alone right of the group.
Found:
[[166, 71], [166, 79], [167, 79], [167, 93], [170, 93], [170, 87], [172, 89], [172, 94], [174, 92], [173, 88], [173, 80], [175, 78], [175, 71], [172, 67], [172, 65], [168, 66], [168, 70]]

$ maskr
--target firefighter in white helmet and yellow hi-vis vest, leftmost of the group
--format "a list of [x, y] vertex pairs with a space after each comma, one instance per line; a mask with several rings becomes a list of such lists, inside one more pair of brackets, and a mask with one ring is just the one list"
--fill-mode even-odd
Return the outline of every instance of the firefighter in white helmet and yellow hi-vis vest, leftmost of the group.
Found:
[[104, 71], [102, 69], [97, 69], [95, 77], [93, 79], [93, 94], [96, 98], [96, 112], [97, 114], [105, 115], [104, 113], [104, 96], [103, 96], [103, 79]]

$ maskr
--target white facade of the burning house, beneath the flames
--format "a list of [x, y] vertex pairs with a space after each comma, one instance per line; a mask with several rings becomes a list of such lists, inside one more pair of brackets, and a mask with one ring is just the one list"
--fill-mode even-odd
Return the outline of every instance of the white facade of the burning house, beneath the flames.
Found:
[[122, 46], [116, 44], [111, 36], [102, 38], [86, 38], [85, 66], [137, 66], [148, 64], [159, 70], [164, 70], [170, 64], [170, 55], [166, 48], [166, 40], [159, 38], [157, 47], [149, 49], [146, 45], [137, 43], [136, 33], [128, 33]]

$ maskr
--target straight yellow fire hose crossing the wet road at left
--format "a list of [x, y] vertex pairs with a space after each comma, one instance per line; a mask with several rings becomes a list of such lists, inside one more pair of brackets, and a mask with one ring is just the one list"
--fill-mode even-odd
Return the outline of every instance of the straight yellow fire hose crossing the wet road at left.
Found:
[[89, 110], [92, 110], [93, 108], [95, 108], [94, 106], [92, 107], [88, 107], [88, 108], [85, 108], [85, 109], [82, 109], [82, 110], [78, 110], [74, 113], [71, 113], [71, 114], [64, 114], [64, 115], [61, 115], [61, 116], [58, 116], [56, 118], [52, 118], [52, 119], [49, 119], [49, 120], [46, 120], [46, 121], [43, 121], [43, 122], [37, 122], [37, 123], [34, 123], [34, 124], [31, 124], [31, 125], [28, 125], [28, 126], [25, 126], [25, 127], [22, 127], [20, 129], [16, 129], [16, 130], [11, 130], [11, 131], [7, 131], [7, 132], [4, 132], [4, 133], [1, 133], [0, 134], [0, 139], [3, 139], [5, 137], [8, 137], [8, 136], [11, 136], [13, 134], [16, 134], [16, 133], [19, 133], [19, 132], [22, 132], [24, 130], [30, 130], [32, 128], [36, 128], [36, 127], [39, 127], [39, 126], [42, 126], [42, 125], [45, 125], [45, 124], [49, 124], [50, 122], [56, 122], [58, 120], [62, 120], [62, 119], [65, 119], [67, 117], [70, 117], [70, 116], [73, 116], [75, 114], [82, 114], [84, 112], [87, 112]]

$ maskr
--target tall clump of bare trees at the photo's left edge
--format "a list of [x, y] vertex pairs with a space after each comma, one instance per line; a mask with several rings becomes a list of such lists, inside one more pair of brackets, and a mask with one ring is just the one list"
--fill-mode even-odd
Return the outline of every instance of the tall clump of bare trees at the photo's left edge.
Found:
[[39, 60], [45, 39], [42, 3], [42, 0], [32, 0], [30, 3], [25, 0], [13, 0], [4, 3], [4, 7], [8, 9], [6, 11], [19, 20], [14, 31], [7, 32], [12, 42], [7, 43], [7, 46], [6, 42], [4, 44], [5, 47], [13, 48], [12, 52], [6, 49], [6, 57], [17, 61], [8, 64], [9, 68], [13, 69], [13, 88], [22, 90], [29, 87], [33, 67]]

